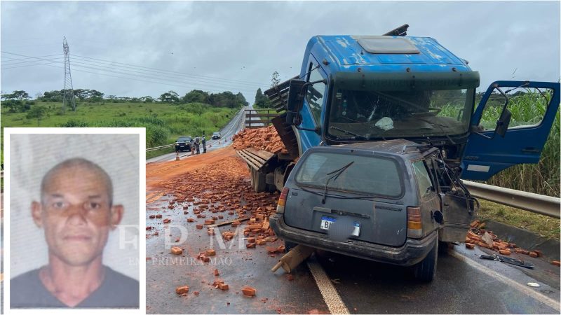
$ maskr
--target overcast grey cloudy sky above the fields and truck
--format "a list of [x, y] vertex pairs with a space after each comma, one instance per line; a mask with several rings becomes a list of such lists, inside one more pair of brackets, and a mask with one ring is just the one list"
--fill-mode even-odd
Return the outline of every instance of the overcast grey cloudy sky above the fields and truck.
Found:
[[299, 72], [309, 38], [380, 35], [405, 23], [494, 80], [560, 80], [559, 1], [1, 1], [1, 91], [64, 87], [121, 97], [242, 92]]

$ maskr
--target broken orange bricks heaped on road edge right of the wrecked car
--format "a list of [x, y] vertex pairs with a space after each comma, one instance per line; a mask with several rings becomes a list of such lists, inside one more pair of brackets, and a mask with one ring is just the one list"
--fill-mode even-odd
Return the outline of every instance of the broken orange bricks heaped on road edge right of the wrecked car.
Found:
[[[508, 243], [499, 239], [492, 231], [485, 230], [485, 223], [475, 220], [471, 223], [471, 229], [466, 235], [466, 248], [475, 248], [475, 246], [482, 248], [489, 248], [492, 251], [498, 251], [501, 255], [511, 255], [511, 253], [519, 253], [523, 255], [529, 255], [532, 258], [538, 258], [543, 256], [541, 251], [527, 251], [523, 248], [519, 248], [514, 243]], [[553, 265], [559, 266], [560, 262], [553, 260], [550, 262]]]

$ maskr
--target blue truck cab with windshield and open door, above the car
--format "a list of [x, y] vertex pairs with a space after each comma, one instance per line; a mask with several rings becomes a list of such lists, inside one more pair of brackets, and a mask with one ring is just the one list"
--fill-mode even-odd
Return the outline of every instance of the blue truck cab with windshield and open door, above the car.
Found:
[[[560, 83], [496, 81], [478, 94], [478, 71], [429, 37], [313, 36], [290, 81], [285, 102], [273, 102], [284, 104], [293, 126], [285, 141], [297, 144], [293, 155], [320, 144], [407, 139], [440, 148], [461, 179], [473, 180], [538, 162], [560, 102]], [[511, 100], [529, 90], [543, 96], [543, 116], [511, 122]]]

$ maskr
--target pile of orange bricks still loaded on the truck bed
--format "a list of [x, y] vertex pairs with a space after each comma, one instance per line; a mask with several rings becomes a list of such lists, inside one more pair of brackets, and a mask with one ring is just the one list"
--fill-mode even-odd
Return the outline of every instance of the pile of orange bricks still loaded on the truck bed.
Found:
[[257, 129], [244, 129], [234, 135], [232, 146], [235, 150], [255, 148], [271, 153], [288, 153], [273, 125]]

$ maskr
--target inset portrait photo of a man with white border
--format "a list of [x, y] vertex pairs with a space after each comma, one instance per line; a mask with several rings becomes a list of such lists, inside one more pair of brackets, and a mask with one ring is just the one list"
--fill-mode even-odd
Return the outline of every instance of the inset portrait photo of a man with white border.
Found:
[[5, 128], [4, 149], [5, 311], [140, 309], [144, 128]]

